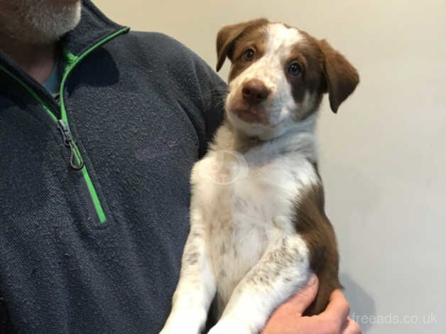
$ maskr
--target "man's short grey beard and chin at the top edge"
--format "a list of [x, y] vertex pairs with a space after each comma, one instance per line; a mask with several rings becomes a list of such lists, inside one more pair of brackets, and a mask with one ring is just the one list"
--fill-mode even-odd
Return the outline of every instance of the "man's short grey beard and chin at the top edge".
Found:
[[22, 43], [54, 43], [80, 21], [81, 1], [74, 4], [54, 4], [48, 0], [6, 1], [11, 2], [12, 11], [0, 13], [1, 33]]

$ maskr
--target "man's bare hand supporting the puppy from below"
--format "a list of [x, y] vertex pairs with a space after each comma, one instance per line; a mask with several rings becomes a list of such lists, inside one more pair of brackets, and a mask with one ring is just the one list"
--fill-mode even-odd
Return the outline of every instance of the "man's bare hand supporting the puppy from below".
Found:
[[349, 302], [340, 290], [317, 316], [302, 316], [317, 295], [319, 282], [313, 275], [307, 286], [274, 311], [262, 334], [360, 334], [359, 325], [349, 318]]

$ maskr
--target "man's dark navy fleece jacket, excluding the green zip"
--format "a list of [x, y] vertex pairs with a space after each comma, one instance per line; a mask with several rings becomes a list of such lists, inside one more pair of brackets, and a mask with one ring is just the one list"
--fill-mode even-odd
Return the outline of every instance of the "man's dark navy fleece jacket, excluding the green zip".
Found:
[[[61, 44], [81, 55], [121, 28], [83, 1], [80, 25]], [[60, 115], [1, 53], [0, 65]], [[159, 33], [118, 36], [76, 66], [65, 107], [107, 216], [101, 224], [58, 126], [0, 69], [2, 323], [33, 334], [161, 330], [188, 232], [190, 171], [222, 120], [226, 89]]]

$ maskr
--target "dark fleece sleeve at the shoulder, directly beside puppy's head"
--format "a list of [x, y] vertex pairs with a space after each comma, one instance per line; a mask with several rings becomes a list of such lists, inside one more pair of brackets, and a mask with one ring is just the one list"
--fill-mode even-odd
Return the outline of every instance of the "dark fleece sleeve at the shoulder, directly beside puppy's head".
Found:
[[227, 85], [192, 50], [162, 33], [137, 33], [151, 60], [163, 66], [163, 80], [185, 109], [200, 140], [200, 157], [224, 118]]

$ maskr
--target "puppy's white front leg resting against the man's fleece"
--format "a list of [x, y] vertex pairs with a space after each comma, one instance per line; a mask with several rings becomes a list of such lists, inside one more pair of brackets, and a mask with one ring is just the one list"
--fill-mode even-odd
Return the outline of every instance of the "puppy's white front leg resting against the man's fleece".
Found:
[[181, 264], [180, 281], [173, 295], [172, 311], [161, 334], [200, 333], [215, 294], [204, 222], [191, 209], [190, 232]]

